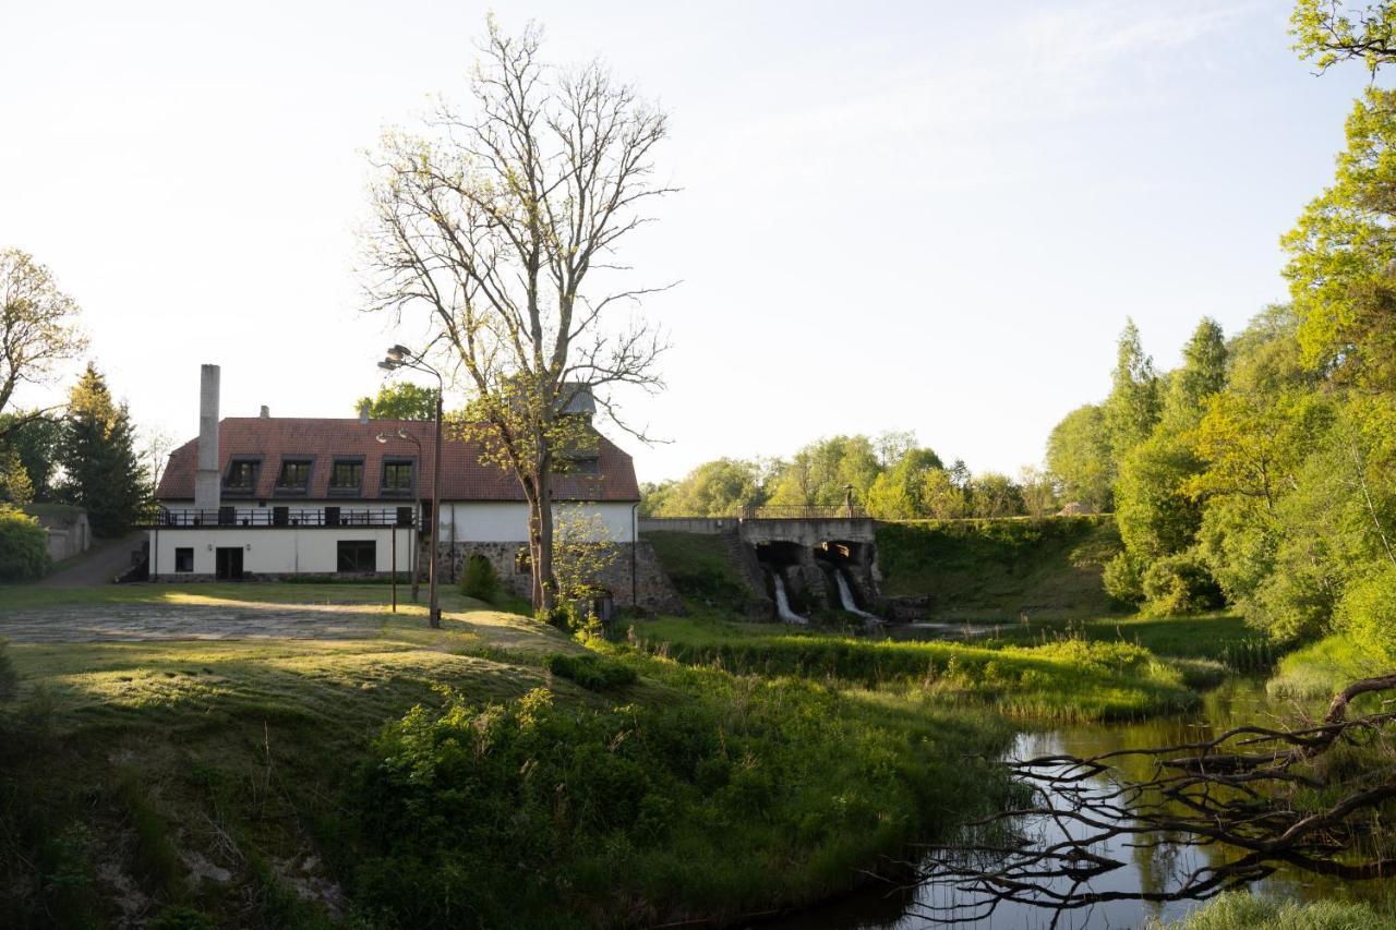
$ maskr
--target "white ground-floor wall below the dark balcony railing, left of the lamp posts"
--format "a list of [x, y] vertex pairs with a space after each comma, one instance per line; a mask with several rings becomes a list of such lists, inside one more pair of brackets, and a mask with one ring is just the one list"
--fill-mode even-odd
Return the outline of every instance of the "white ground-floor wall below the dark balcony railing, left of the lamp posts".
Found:
[[412, 529], [387, 526], [152, 529], [149, 531], [154, 556], [151, 571], [161, 577], [179, 578], [183, 573], [174, 571], [174, 550], [188, 547], [194, 550], [193, 574], [211, 575], [215, 571], [215, 550], [233, 546], [243, 550], [243, 571], [250, 574], [336, 571], [341, 539], [371, 539], [377, 543], [374, 547], [377, 571], [388, 573], [392, 571], [394, 533], [398, 536], [398, 571], [408, 571], [415, 535]]

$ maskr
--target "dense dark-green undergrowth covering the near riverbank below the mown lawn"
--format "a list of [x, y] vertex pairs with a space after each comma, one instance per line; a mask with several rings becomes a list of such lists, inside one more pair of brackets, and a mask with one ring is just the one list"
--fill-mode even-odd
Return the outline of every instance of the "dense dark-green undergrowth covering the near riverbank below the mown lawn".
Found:
[[[610, 647], [606, 647], [607, 649]], [[350, 892], [384, 927], [723, 922], [852, 885], [1007, 803], [991, 721], [617, 652], [673, 700], [480, 704], [391, 723], [353, 799]]]

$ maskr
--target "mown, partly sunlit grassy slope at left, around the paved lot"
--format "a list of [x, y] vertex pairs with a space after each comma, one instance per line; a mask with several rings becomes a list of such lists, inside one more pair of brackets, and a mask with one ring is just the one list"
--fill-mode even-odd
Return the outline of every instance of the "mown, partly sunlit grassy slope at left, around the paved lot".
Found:
[[[22, 739], [0, 747], [0, 822], [14, 831], [0, 829], [0, 926], [107, 926], [180, 901], [230, 926], [313, 926], [320, 912], [299, 903], [296, 887], [332, 899], [335, 799], [383, 722], [437, 700], [438, 686], [517, 697], [547, 681], [532, 662], [581, 649], [484, 610], [429, 631], [419, 616], [389, 614], [381, 586], [233, 588], [264, 602], [376, 603], [383, 626], [335, 641], [11, 644]], [[152, 591], [165, 603], [219, 592]], [[63, 599], [101, 593], [140, 592]], [[596, 700], [553, 684], [561, 700]], [[201, 863], [232, 881], [190, 888]]]

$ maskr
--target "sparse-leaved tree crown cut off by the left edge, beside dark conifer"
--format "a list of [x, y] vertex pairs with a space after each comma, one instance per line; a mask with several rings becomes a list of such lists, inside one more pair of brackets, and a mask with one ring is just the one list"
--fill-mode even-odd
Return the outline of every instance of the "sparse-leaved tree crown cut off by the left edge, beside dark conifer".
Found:
[[[43, 384], [59, 362], [87, 348], [77, 316], [77, 302], [59, 290], [47, 268], [18, 249], [0, 250], [0, 415], [21, 384]], [[4, 418], [0, 440], [45, 413]]]

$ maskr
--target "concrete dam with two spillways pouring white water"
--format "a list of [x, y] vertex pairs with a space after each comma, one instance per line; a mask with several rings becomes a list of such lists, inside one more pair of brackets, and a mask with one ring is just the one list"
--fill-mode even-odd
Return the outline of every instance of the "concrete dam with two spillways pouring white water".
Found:
[[867, 517], [646, 518], [639, 532], [720, 536], [761, 619], [805, 624], [836, 607], [879, 623], [875, 521]]

